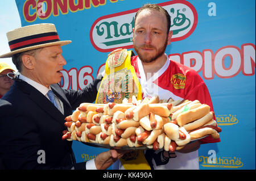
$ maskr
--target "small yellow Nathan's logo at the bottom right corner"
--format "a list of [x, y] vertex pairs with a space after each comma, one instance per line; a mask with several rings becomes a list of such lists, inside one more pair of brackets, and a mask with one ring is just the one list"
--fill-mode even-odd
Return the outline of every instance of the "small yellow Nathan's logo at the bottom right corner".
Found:
[[209, 156], [201, 155], [199, 157], [200, 166], [229, 169], [237, 169], [243, 166], [241, 158], [238, 157], [217, 157], [215, 150], [209, 150], [208, 155]]

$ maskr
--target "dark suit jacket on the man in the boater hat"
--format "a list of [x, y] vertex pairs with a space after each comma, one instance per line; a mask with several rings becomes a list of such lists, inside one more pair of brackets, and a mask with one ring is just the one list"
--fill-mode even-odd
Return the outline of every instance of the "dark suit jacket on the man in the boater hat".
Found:
[[80, 103], [96, 99], [100, 81], [79, 91], [51, 85], [63, 102], [64, 115], [34, 87], [15, 81], [0, 103], [0, 159], [5, 169], [85, 169], [85, 162], [75, 163], [72, 141], [61, 140], [67, 129], [64, 119]]

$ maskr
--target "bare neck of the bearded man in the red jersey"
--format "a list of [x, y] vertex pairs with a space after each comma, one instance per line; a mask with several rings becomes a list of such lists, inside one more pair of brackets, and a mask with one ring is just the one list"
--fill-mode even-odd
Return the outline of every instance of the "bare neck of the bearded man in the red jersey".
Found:
[[164, 64], [166, 64], [166, 61], [167, 57], [165, 54], [163, 54], [163, 56], [159, 57], [153, 62], [147, 63], [141, 61], [146, 79], [151, 78], [154, 75], [154, 73], [158, 72], [158, 70], [160, 70], [164, 66]]

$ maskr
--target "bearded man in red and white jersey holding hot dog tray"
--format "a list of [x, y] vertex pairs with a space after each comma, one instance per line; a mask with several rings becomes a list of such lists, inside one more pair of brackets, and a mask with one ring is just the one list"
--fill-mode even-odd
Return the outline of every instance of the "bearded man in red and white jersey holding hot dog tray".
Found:
[[[158, 5], [144, 5], [135, 15], [133, 42], [138, 56], [131, 57], [131, 65], [141, 83], [142, 99], [158, 95], [159, 99], [167, 100], [199, 100], [213, 111], [209, 91], [200, 75], [170, 60], [164, 53], [167, 45], [171, 44], [170, 23], [168, 12]], [[175, 153], [163, 149], [146, 150], [145, 157], [151, 169], [199, 169], [200, 144], [210, 142], [220, 142], [220, 139], [208, 136], [187, 144]], [[123, 168], [121, 163], [118, 167]]]

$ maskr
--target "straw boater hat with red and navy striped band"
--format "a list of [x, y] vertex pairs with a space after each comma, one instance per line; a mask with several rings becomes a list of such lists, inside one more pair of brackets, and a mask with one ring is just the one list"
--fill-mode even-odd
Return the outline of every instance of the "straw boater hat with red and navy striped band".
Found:
[[49, 47], [67, 45], [70, 40], [60, 41], [55, 25], [50, 23], [33, 24], [17, 28], [6, 33], [11, 52], [0, 55], [0, 58], [12, 57], [16, 53]]

